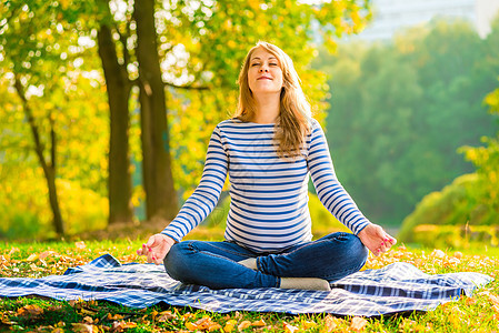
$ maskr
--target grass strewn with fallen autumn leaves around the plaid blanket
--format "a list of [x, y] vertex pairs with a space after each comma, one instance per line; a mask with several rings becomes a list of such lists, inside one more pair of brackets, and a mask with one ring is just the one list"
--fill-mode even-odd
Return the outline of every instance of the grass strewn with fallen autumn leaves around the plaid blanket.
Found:
[[[62, 274], [69, 266], [88, 263], [103, 253], [112, 254], [121, 263], [144, 262], [134, 253], [142, 242], [0, 243], [0, 278]], [[258, 312], [220, 314], [176, 306], [137, 310], [103, 301], [0, 299], [0, 332], [499, 332], [498, 248], [458, 252], [399, 245], [382, 256], [370, 256], [366, 269], [397, 261], [410, 262], [431, 274], [472, 271], [496, 280], [473, 296], [462, 296], [435, 311], [376, 319]]]

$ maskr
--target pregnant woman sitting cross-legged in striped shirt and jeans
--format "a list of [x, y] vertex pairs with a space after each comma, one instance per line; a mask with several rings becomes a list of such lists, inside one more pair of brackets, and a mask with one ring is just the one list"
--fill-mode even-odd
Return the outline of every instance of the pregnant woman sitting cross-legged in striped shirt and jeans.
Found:
[[[396, 240], [362, 215], [336, 179], [322, 129], [281, 49], [267, 42], [252, 48], [239, 85], [236, 117], [216, 127], [198, 188], [137, 252], [163, 262], [176, 280], [212, 289], [329, 290], [362, 268], [367, 249], [378, 255]], [[227, 174], [226, 241], [181, 241], [213, 210]], [[311, 241], [309, 175], [325, 206], [353, 234]]]

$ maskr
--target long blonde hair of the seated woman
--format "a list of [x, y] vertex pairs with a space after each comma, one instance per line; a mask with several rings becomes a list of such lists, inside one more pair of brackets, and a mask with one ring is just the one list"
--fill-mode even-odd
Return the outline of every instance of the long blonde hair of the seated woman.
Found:
[[249, 121], [256, 113], [256, 102], [248, 83], [248, 70], [251, 56], [258, 48], [263, 48], [276, 57], [282, 70], [280, 110], [275, 137], [278, 142], [277, 153], [281, 158], [298, 157], [305, 138], [310, 131], [310, 104], [301, 90], [301, 80], [295, 70], [291, 58], [275, 44], [259, 41], [248, 52], [239, 73], [239, 103], [234, 118]]

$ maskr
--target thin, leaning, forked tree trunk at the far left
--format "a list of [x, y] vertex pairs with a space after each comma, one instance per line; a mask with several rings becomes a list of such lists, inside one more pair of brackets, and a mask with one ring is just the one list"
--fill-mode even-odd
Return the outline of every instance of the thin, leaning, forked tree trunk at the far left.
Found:
[[[28, 100], [24, 95], [24, 88], [21, 84], [21, 81], [19, 80], [19, 77], [16, 77], [16, 91], [18, 92], [19, 98], [22, 101], [22, 109], [24, 110], [26, 118], [28, 120], [28, 124], [31, 129], [31, 134], [33, 135], [33, 142], [34, 142], [34, 152], [37, 153], [38, 161], [40, 162], [41, 169], [43, 170], [43, 174], [47, 180], [47, 186], [49, 189], [49, 202], [50, 202], [50, 209], [52, 210], [53, 215], [53, 229], [56, 230], [56, 233], [59, 236], [64, 235], [64, 223], [62, 221], [61, 210], [59, 206], [59, 200], [57, 194], [57, 186], [56, 186], [56, 131], [53, 129], [53, 121], [52, 118], [50, 118], [50, 138], [51, 138], [51, 151], [50, 157], [51, 161], [47, 161], [46, 157], [43, 155], [43, 144], [40, 139], [40, 132], [38, 130], [37, 124], [34, 123], [33, 112], [31, 111], [30, 105], [28, 104]], [[50, 117], [50, 115], [49, 115]]]

